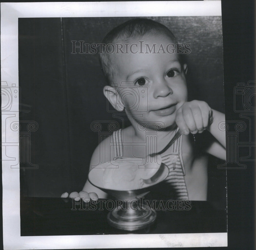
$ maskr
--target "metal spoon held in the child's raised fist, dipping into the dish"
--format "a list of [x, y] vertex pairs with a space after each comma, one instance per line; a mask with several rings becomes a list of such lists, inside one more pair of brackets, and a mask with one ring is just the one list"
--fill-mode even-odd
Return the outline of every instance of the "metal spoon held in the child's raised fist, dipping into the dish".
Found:
[[[155, 157], [159, 154], [162, 154], [164, 153], [180, 136], [182, 135], [182, 132], [180, 130], [178, 130], [174, 137], [172, 138], [172, 140], [170, 140], [170, 142], [166, 145], [166, 147], [161, 150], [160, 152], [158, 153], [152, 153], [152, 154], [149, 154], [150, 157]], [[157, 171], [153, 174], [153, 176], [151, 176], [151, 178], [148, 178], [148, 179], [143, 179], [143, 182], [145, 184], [153, 184], [155, 182], [157, 182], [157, 180], [159, 179], [159, 177], [161, 177], [165, 167], [167, 168], [167, 166], [163, 163], [161, 163], [160, 167], [157, 169]]]

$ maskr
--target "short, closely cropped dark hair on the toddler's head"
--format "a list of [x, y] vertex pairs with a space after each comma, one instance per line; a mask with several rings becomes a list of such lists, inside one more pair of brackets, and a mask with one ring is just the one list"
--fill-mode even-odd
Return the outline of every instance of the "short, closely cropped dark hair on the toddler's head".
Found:
[[[177, 39], [173, 33], [163, 24], [158, 23], [152, 19], [147, 18], [136, 18], [129, 20], [121, 25], [116, 26], [112, 29], [103, 39], [102, 44], [115, 44], [120, 40], [128, 40], [130, 38], [142, 37], [149, 33], [162, 33], [168, 36], [175, 44]], [[100, 64], [103, 70], [104, 76], [111, 83], [114, 78], [114, 63], [111, 61], [111, 54], [107, 53], [103, 49], [100, 55]]]

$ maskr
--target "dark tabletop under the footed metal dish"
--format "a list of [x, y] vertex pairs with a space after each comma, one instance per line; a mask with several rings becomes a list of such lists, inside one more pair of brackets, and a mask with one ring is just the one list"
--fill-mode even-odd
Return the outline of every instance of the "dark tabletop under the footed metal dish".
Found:
[[108, 224], [109, 211], [104, 205], [107, 200], [101, 201], [96, 209], [93, 206], [93, 210], [88, 210], [86, 204], [74, 206], [71, 199], [21, 197], [21, 236], [227, 232], [225, 202], [191, 201], [189, 210], [178, 210], [177, 207], [164, 210], [160, 207], [153, 225], [129, 232]]

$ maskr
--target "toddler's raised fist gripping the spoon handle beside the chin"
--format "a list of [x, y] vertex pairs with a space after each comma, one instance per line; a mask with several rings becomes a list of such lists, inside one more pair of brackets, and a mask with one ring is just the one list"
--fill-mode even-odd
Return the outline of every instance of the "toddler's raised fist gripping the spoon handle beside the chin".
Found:
[[176, 124], [183, 134], [202, 133], [212, 123], [212, 110], [204, 101], [179, 103]]

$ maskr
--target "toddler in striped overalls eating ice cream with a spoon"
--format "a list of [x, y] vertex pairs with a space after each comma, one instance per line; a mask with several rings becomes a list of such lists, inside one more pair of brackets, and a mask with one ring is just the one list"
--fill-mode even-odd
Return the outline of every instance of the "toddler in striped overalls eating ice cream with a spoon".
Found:
[[[116, 146], [111, 147], [111, 159], [106, 161], [114, 157], [146, 158], [165, 148], [179, 129], [182, 136], [161, 154], [162, 163], [169, 168], [162, 192], [172, 194], [170, 199], [206, 200], [207, 153], [226, 159], [225, 131], [218, 129], [225, 115], [204, 101], [187, 101], [188, 68], [177, 53], [175, 36], [160, 23], [137, 18], [115, 27], [102, 43], [113, 45], [100, 53], [110, 84], [103, 88], [104, 95], [116, 110], [124, 110], [132, 124], [112, 134], [110, 139]], [[137, 106], [136, 96], [131, 94], [136, 88], [140, 95]], [[203, 151], [195, 148], [193, 135], [197, 133], [206, 134], [200, 137], [207, 140]], [[155, 134], [157, 140], [150, 139]], [[145, 150], [140, 145], [146, 137]], [[100, 151], [106, 144], [103, 141], [95, 149], [90, 166], [99, 163]], [[106, 198], [107, 194], [87, 180], [81, 192], [69, 196], [89, 201]]]

